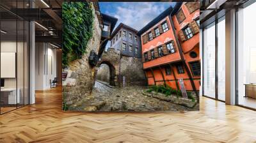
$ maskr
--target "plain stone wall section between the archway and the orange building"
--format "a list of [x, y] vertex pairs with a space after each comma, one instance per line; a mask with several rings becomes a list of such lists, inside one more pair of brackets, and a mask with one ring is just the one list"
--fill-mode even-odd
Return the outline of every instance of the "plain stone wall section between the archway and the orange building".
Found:
[[124, 86], [147, 85], [141, 58], [122, 56], [120, 75], [121, 84], [123, 84], [123, 79], [125, 77]]

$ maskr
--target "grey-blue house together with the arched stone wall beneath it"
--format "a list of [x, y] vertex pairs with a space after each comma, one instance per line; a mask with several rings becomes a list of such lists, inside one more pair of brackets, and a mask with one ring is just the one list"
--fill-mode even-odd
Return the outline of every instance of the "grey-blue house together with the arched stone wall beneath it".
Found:
[[147, 84], [141, 60], [140, 36], [137, 33], [136, 29], [123, 23], [116, 27], [109, 40], [111, 47], [100, 57], [97, 80], [119, 87]]

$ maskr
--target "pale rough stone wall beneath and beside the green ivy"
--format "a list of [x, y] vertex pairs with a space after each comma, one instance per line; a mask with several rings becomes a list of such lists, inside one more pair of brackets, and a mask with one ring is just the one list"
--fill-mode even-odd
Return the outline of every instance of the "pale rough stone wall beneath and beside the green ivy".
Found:
[[[93, 13], [95, 13], [94, 8]], [[62, 94], [63, 102], [67, 105], [79, 102], [92, 92], [96, 68], [90, 66], [88, 57], [91, 50], [99, 51], [101, 37], [101, 29], [96, 14], [94, 14], [93, 26], [93, 37], [88, 42], [86, 54], [81, 59], [72, 61], [67, 68], [63, 69], [63, 72], [67, 73], [67, 79], [63, 80]]]

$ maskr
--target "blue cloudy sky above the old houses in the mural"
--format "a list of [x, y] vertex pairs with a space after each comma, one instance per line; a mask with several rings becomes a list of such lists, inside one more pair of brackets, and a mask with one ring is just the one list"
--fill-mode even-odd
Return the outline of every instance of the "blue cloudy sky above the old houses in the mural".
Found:
[[[174, 2], [100, 2], [100, 12], [118, 19], [117, 27], [121, 22], [138, 31], [156, 18], [160, 13], [174, 6]], [[106, 50], [110, 47], [110, 42]]]

